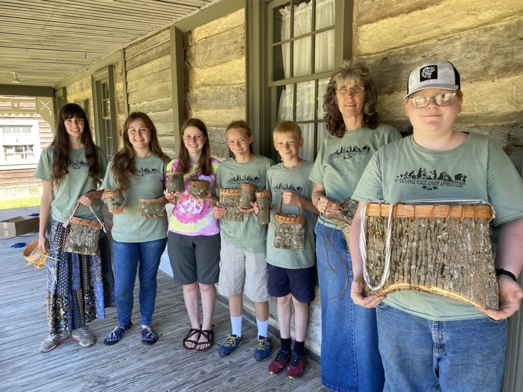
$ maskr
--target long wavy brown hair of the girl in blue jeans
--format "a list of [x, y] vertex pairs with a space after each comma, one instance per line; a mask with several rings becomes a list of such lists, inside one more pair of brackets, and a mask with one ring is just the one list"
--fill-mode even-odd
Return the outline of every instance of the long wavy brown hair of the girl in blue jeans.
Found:
[[142, 120], [147, 128], [151, 131], [151, 139], [149, 140], [149, 148], [152, 153], [158, 158], [162, 159], [164, 163], [169, 162], [170, 158], [164, 154], [160, 143], [158, 142], [158, 136], [156, 127], [151, 121], [150, 117], [143, 112], [132, 112], [129, 117], [123, 123], [122, 129], [122, 148], [112, 158], [111, 174], [115, 179], [116, 185], [122, 190], [126, 190], [130, 186], [131, 178], [136, 176], [136, 164], [134, 162], [134, 148], [129, 141], [129, 135], [127, 131], [129, 126], [135, 120]]

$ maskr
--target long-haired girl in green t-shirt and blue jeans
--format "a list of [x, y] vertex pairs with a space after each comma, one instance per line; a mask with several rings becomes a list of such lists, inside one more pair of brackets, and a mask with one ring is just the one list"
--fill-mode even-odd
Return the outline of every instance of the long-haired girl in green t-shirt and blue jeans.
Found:
[[115, 296], [118, 324], [104, 344], [118, 343], [131, 327], [134, 282], [140, 279], [141, 341], [154, 344], [151, 327], [156, 300], [156, 274], [167, 244], [167, 216], [142, 216], [138, 199], [163, 196], [169, 157], [158, 143], [156, 128], [147, 114], [133, 112], [123, 124], [123, 146], [112, 158], [102, 187], [121, 189], [126, 205], [113, 216], [112, 250], [115, 256]]

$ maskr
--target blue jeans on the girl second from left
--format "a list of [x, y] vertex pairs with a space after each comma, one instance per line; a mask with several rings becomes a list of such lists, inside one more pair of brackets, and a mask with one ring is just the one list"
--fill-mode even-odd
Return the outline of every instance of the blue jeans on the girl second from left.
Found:
[[126, 326], [131, 321], [137, 269], [140, 279], [141, 323], [151, 324], [156, 301], [156, 274], [166, 244], [167, 238], [144, 243], [119, 243], [112, 240], [116, 311], [118, 324], [121, 326]]

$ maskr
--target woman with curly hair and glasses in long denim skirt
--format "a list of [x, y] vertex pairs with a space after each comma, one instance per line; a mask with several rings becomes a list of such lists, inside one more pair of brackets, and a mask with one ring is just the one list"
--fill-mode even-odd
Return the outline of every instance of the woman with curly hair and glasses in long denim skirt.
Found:
[[[323, 96], [325, 137], [309, 179], [312, 201], [320, 211], [316, 224], [316, 260], [322, 306], [322, 383], [335, 391], [382, 391], [374, 309], [350, 299], [350, 253], [342, 230], [328, 216], [341, 211], [371, 156], [401, 139], [381, 124], [378, 93], [369, 69], [345, 60], [331, 75]], [[336, 322], [334, 322], [336, 320]]]

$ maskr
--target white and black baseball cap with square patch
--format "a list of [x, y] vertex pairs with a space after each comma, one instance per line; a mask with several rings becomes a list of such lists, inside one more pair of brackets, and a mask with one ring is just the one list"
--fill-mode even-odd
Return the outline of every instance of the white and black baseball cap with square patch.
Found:
[[424, 88], [457, 90], [461, 88], [459, 72], [449, 61], [434, 61], [417, 66], [408, 75], [407, 98]]

